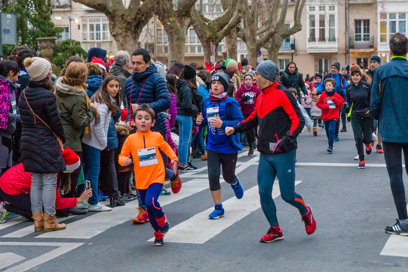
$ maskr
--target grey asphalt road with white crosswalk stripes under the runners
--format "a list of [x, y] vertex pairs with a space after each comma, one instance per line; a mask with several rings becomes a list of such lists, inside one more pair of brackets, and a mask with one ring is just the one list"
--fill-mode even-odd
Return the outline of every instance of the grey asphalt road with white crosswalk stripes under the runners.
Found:
[[[322, 128], [298, 137], [295, 190], [313, 208], [317, 230], [307, 235], [299, 212], [274, 190], [284, 240], [260, 243], [268, 230], [257, 195], [257, 160], [238, 159], [244, 197], [223, 182], [225, 217], [209, 220], [213, 208], [206, 162], [184, 174], [177, 195], [159, 198], [171, 225], [164, 246], [155, 247], [149, 223], [133, 225], [137, 201], [111, 212], [64, 220], [67, 229], [33, 232], [32, 223], [9, 217], [0, 224], [0, 271], [406, 271], [408, 237], [386, 234], [395, 223], [384, 155], [373, 152], [358, 169], [351, 124], [333, 154]], [[406, 173], [404, 172], [404, 180]], [[275, 182], [277, 184], [277, 182]], [[169, 187], [169, 185], [166, 185]]]

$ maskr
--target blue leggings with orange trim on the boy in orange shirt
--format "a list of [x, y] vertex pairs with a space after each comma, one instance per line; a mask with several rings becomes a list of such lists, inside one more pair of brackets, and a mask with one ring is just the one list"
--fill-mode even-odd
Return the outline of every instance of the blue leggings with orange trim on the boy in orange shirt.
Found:
[[160, 230], [156, 218], [160, 218], [164, 215], [164, 212], [160, 207], [159, 202], [157, 202], [157, 198], [159, 197], [162, 188], [163, 184], [161, 183], [152, 183], [149, 185], [147, 189], [136, 188], [138, 195], [140, 195], [142, 203], [146, 206], [149, 222], [155, 231]]

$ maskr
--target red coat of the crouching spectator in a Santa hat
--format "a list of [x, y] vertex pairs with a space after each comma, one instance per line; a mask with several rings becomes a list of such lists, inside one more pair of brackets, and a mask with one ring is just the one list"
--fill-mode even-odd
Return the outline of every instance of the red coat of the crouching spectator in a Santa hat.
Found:
[[[0, 177], [0, 188], [8, 195], [29, 194], [31, 190], [31, 173], [24, 172], [23, 164], [11, 167]], [[61, 198], [56, 189], [55, 209], [73, 208], [77, 204], [76, 197]]]

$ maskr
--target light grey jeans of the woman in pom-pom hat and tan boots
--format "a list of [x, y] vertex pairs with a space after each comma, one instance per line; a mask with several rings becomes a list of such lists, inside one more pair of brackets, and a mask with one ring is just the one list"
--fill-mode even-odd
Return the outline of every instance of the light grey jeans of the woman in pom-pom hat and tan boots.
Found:
[[55, 215], [55, 188], [57, 187], [57, 173], [31, 173], [31, 211], [41, 212], [44, 206], [46, 215]]

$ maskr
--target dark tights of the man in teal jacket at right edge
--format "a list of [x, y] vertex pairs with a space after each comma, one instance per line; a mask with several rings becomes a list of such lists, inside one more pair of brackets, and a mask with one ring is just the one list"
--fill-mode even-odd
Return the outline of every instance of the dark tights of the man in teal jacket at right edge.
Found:
[[[388, 176], [390, 177], [390, 185], [392, 197], [394, 197], [395, 207], [398, 212], [398, 219], [408, 219], [405, 189], [402, 181], [402, 156], [401, 150], [404, 151], [404, 161], [408, 161], [408, 143], [391, 143], [382, 142], [384, 146], [384, 159], [387, 165]], [[408, 174], [408, 167], [405, 167]]]

